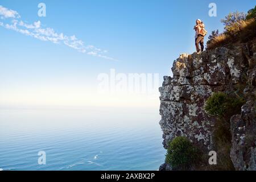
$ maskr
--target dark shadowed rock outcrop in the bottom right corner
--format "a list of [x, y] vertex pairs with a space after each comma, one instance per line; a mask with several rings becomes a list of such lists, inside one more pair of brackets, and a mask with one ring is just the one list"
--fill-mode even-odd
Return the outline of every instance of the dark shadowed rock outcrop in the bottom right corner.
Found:
[[230, 119], [232, 148], [230, 157], [236, 170], [256, 171], [256, 122], [255, 102], [247, 101], [241, 115]]

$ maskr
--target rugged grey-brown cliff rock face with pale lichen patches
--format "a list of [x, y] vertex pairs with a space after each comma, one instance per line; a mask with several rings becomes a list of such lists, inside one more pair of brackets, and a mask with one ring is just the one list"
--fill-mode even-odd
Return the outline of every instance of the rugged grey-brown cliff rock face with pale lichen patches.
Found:
[[173, 77], [165, 76], [159, 88], [164, 147], [175, 137], [185, 136], [204, 152], [213, 150], [216, 118], [205, 113], [205, 101], [213, 92], [235, 92], [246, 77], [243, 92], [250, 93], [250, 97], [246, 98], [241, 113], [230, 119], [233, 137], [230, 156], [236, 169], [255, 170], [256, 107], [251, 97], [255, 96], [255, 60], [256, 41], [180, 55], [172, 67]]

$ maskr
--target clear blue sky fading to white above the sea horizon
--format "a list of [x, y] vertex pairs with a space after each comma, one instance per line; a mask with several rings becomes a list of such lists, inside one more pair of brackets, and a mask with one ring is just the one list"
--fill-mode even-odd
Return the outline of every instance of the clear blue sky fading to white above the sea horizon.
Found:
[[[38, 16], [40, 2], [46, 4], [46, 17]], [[217, 17], [208, 15], [211, 2], [217, 5]], [[202, 19], [208, 32], [222, 31], [221, 18], [236, 10], [247, 12], [255, 2], [1, 0], [0, 5], [18, 12], [24, 23], [40, 21], [41, 27], [53, 28], [57, 34], [75, 35], [85, 46], [106, 50], [105, 56], [118, 60], [81, 53], [64, 44], [42, 41], [0, 26], [0, 105], [5, 107], [51, 105], [53, 102], [43, 100], [52, 101], [61, 94], [54, 102], [57, 105], [76, 105], [73, 95], [77, 95], [74, 100], [93, 104], [97, 75], [109, 73], [111, 68], [119, 73], [159, 73], [162, 82], [162, 76], [171, 74], [172, 62], [180, 53], [195, 51], [195, 19]], [[0, 19], [6, 21], [10, 20]], [[80, 99], [82, 93], [86, 100]], [[139, 101], [132, 97], [134, 102], [121, 104], [142, 104], [145, 98], [139, 97]], [[122, 98], [117, 98], [115, 106]], [[105, 100], [104, 106], [112, 101], [109, 96], [101, 99]], [[158, 106], [158, 98], [145, 103]]]

